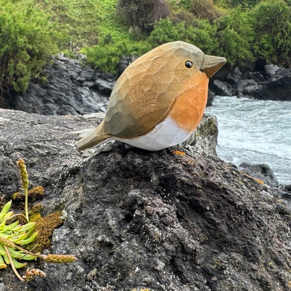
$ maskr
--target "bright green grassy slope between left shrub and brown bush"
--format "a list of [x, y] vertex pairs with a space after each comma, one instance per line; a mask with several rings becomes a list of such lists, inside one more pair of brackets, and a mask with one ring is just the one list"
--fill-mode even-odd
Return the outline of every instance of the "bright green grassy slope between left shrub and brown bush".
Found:
[[113, 40], [129, 35], [122, 19], [116, 15], [117, 0], [34, 1], [52, 16], [61, 49], [96, 45], [108, 35]]

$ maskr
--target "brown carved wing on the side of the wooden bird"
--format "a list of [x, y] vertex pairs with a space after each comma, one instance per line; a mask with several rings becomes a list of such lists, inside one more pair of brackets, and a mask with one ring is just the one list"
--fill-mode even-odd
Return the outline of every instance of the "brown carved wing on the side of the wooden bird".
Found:
[[169, 62], [170, 56], [155, 55], [146, 61], [136, 60], [126, 69], [109, 101], [104, 119], [106, 133], [134, 138], [150, 132], [167, 117], [179, 90], [176, 67]]

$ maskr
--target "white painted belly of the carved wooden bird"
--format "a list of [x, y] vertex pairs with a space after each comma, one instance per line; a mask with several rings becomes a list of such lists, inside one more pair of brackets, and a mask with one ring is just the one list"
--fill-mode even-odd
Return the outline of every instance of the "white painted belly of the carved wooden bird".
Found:
[[166, 118], [158, 124], [150, 133], [134, 139], [118, 139], [112, 138], [123, 142], [125, 144], [136, 146], [139, 148], [155, 151], [169, 146], [175, 146], [184, 142], [191, 135], [192, 132], [186, 132], [180, 129], [171, 118]]

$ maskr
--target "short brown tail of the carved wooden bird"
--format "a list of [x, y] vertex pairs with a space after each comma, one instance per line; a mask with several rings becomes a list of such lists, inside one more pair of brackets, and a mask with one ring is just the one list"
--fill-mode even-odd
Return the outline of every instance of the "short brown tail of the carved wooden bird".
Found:
[[103, 122], [101, 122], [96, 129], [92, 130], [89, 134], [83, 137], [75, 145], [79, 150], [84, 150], [93, 146], [99, 146], [105, 143], [110, 136], [105, 133], [103, 129]]

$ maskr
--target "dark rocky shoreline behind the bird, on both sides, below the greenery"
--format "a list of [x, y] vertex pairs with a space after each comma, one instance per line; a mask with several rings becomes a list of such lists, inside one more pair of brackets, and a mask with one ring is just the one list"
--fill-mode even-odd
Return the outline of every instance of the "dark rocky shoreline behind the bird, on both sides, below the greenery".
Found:
[[[116, 78], [109, 73], [92, 69], [84, 62], [85, 56], [69, 59], [60, 54], [53, 64], [44, 67], [42, 83], [32, 80], [24, 94], [4, 94], [2, 108], [45, 115], [79, 115], [106, 112], [109, 96]], [[124, 58], [119, 74], [134, 58]], [[210, 79], [208, 106], [215, 96], [237, 96], [257, 99], [291, 100], [291, 70], [276, 65], [222, 68]]]

